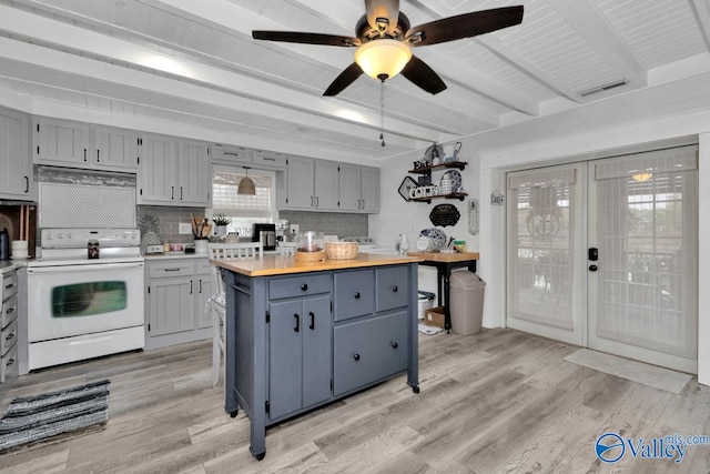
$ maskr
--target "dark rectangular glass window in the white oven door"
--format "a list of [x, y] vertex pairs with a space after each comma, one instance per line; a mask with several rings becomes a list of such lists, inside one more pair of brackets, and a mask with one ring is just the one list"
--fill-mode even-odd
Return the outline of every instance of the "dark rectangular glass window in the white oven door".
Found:
[[52, 289], [52, 317], [88, 316], [124, 310], [124, 281], [74, 283]]

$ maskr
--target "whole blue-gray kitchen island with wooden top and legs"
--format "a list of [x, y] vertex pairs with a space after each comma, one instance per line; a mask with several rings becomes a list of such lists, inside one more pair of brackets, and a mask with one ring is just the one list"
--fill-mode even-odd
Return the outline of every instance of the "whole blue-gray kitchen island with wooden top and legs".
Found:
[[415, 256], [212, 261], [226, 288], [225, 411], [266, 427], [406, 372], [418, 386]]

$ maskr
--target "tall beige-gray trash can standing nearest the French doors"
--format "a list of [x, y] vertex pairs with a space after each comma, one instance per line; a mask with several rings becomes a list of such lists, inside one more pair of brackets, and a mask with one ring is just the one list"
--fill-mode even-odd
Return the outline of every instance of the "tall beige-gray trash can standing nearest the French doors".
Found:
[[480, 332], [486, 282], [469, 271], [453, 272], [449, 279], [452, 331], [456, 334]]

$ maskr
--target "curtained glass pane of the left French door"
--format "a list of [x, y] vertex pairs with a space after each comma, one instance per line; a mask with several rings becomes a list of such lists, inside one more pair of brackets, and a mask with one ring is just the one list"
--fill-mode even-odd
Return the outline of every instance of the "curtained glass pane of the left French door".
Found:
[[508, 316], [571, 331], [575, 184], [551, 177], [515, 179], [519, 184], [509, 191]]

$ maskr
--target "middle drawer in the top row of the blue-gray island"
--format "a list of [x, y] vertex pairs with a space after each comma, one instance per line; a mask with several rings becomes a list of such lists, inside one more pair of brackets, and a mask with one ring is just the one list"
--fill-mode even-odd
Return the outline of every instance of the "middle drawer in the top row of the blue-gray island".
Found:
[[356, 270], [335, 274], [335, 321], [375, 312], [375, 271]]

